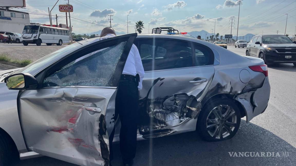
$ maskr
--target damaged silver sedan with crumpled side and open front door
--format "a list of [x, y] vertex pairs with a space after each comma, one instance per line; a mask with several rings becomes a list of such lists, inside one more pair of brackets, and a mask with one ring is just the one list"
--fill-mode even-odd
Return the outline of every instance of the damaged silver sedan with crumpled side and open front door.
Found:
[[119, 139], [120, 120], [113, 118], [117, 85], [132, 44], [145, 70], [138, 140], [195, 130], [207, 141], [230, 139], [242, 117], [249, 122], [267, 107], [270, 85], [260, 58], [174, 35], [88, 39], [4, 72], [0, 144], [9, 144], [0, 145], [4, 157], [16, 150], [21, 159], [41, 154], [108, 165], [114, 127], [114, 141]]

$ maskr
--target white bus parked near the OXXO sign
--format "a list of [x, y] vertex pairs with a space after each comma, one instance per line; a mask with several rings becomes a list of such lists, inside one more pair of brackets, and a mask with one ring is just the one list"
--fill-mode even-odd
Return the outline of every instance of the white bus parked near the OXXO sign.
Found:
[[65, 28], [49, 27], [44, 25], [25, 25], [22, 31], [22, 44], [28, 45], [46, 43], [46, 45], [62, 45], [69, 43], [69, 30]]

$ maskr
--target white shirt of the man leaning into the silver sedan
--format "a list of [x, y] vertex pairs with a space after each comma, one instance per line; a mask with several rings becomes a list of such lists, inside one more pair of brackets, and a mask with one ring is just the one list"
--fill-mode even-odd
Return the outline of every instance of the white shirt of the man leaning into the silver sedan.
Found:
[[[106, 36], [102, 37], [102, 39], [112, 38], [115, 37], [113, 34], [107, 34]], [[144, 78], [144, 68], [141, 61], [140, 53], [136, 45], [132, 45], [131, 51], [128, 54], [128, 58], [126, 60], [126, 64], [124, 65], [122, 74], [128, 74], [132, 76], [136, 76], [139, 74], [140, 82], [138, 89], [142, 89], [142, 81]]]

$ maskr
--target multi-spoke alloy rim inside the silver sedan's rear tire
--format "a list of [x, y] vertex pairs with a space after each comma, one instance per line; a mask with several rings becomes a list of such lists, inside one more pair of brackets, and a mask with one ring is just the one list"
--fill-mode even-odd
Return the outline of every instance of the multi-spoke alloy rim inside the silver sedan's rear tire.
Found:
[[229, 136], [237, 124], [237, 114], [230, 105], [218, 105], [207, 116], [208, 134], [215, 139]]

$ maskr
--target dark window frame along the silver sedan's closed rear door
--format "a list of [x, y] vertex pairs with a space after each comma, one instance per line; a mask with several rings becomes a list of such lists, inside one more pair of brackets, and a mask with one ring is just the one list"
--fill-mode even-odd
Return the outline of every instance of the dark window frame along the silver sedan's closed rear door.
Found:
[[[138, 50], [141, 49], [139, 47], [139, 40], [147, 40], [147, 39], [150, 39], [150, 40], [153, 40], [153, 38], [136, 38], [135, 41], [134, 41], [134, 44], [137, 46]], [[174, 40], [174, 41], [181, 41], [181, 42], [187, 42], [187, 43], [190, 43], [191, 45], [191, 55], [192, 55], [192, 65], [195, 65], [196, 64], [196, 59], [195, 59], [195, 45], [194, 44], [197, 44], [197, 45], [200, 45], [200, 47], [205, 47], [206, 49], [209, 49], [210, 50], [210, 54], [212, 56], [212, 59], [213, 59], [213, 64], [210, 64], [210, 65], [203, 65], [203, 66], [189, 66], [189, 67], [181, 67], [181, 68], [174, 68], [174, 69], [161, 69], [161, 70], [151, 70], [151, 71], [144, 71], [145, 73], [149, 73], [149, 72], [156, 72], [156, 71], [168, 71], [168, 70], [178, 70], [178, 69], [189, 69], [189, 68], [196, 68], [196, 67], [206, 67], [206, 66], [214, 66], [215, 65], [215, 53], [213, 52], [213, 50], [211, 48], [209, 48], [208, 46], [206, 45], [203, 45], [203, 44], [200, 44], [200, 43], [197, 43], [197, 42], [192, 42], [192, 41], [188, 41], [188, 40], [182, 40], [182, 39], [172, 39], [172, 38], [154, 38], [154, 39], [157, 39], [157, 40]], [[155, 49], [156, 51], [157, 49]]]

